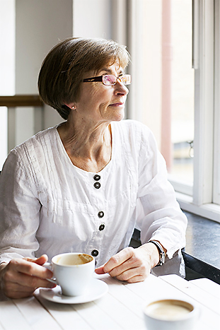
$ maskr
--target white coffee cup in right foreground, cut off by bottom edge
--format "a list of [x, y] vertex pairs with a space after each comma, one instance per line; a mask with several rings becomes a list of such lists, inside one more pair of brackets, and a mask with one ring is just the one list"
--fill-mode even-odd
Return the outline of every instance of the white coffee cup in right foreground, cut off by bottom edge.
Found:
[[198, 317], [198, 308], [184, 300], [156, 300], [144, 308], [148, 330], [192, 330]]

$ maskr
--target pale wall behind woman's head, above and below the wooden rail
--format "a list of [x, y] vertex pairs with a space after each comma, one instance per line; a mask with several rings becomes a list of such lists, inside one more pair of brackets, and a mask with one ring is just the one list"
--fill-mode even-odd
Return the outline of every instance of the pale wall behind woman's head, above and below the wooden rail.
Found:
[[[37, 77], [42, 61], [60, 40], [73, 35], [111, 39], [118, 25], [115, 18], [120, 20], [121, 17], [119, 12], [117, 15], [112, 13], [125, 1], [0, 0], [0, 41], [1, 45], [5, 45], [0, 52], [0, 62], [4, 64], [0, 66], [0, 95], [37, 94]], [[48, 106], [44, 107], [43, 113], [39, 108], [12, 109], [9, 118], [9, 126], [12, 123], [8, 128], [11, 136], [9, 149], [40, 129], [63, 120], [56, 110]], [[0, 112], [0, 119], [5, 127], [5, 111]], [[4, 136], [6, 138], [6, 131]], [[6, 142], [0, 141], [1, 154], [3, 144]]]

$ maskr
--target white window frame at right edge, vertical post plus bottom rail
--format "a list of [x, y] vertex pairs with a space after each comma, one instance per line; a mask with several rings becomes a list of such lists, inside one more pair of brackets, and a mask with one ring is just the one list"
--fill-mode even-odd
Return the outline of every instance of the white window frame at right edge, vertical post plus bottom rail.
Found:
[[[220, 205], [214, 195], [219, 187], [219, 4], [193, 0], [193, 54], [195, 69], [194, 184], [190, 198], [177, 193], [185, 211], [220, 223]], [[207, 83], [209, 81], [209, 84]], [[218, 116], [218, 118], [217, 118]], [[217, 120], [218, 119], [218, 120]]]

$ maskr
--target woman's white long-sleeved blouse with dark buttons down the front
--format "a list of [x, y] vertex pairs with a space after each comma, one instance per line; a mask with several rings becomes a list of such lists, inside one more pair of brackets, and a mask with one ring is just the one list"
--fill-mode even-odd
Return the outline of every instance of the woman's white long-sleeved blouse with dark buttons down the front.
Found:
[[154, 270], [184, 275], [187, 219], [154, 136], [132, 120], [111, 127], [112, 157], [98, 173], [71, 163], [57, 126], [9, 153], [0, 175], [0, 262], [84, 252], [100, 266], [129, 245], [136, 227], [142, 243], [167, 249], [166, 264]]

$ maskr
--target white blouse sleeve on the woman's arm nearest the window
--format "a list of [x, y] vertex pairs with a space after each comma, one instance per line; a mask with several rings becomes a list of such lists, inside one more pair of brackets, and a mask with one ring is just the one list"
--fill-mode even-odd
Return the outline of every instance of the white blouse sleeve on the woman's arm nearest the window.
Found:
[[142, 244], [158, 240], [171, 259], [175, 252], [185, 247], [187, 218], [175, 199], [165, 160], [151, 131], [142, 134], [141, 138], [138, 204]]

